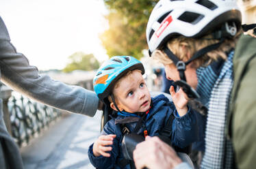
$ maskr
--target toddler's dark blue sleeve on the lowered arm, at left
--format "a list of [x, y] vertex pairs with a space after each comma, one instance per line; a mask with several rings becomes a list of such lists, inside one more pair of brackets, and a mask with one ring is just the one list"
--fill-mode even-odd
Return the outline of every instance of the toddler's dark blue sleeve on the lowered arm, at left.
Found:
[[[114, 120], [112, 119], [105, 124], [101, 135], [116, 134], [116, 130], [116, 125], [114, 125]], [[113, 144], [111, 146], [112, 151], [107, 152], [110, 153], [110, 157], [103, 157], [102, 155], [100, 155], [99, 157], [95, 157], [92, 153], [93, 144], [90, 145], [88, 150], [88, 157], [91, 164], [98, 169], [114, 168], [114, 164], [116, 164], [116, 158], [119, 154], [119, 140], [120, 134], [116, 134], [116, 138], [114, 138]]]

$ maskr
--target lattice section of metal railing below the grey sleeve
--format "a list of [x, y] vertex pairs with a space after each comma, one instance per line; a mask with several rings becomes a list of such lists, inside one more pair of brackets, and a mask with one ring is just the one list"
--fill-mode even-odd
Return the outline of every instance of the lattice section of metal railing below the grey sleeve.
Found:
[[49, 127], [49, 124], [61, 115], [60, 110], [32, 102], [22, 95], [12, 95], [8, 109], [12, 137], [20, 147], [28, 144], [31, 138], [38, 136], [42, 129]]

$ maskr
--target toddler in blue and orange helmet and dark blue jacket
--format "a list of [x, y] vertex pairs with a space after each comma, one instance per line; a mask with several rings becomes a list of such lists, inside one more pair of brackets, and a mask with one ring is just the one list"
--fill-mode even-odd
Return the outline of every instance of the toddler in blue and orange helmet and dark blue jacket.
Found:
[[[133, 57], [112, 57], [103, 63], [94, 76], [94, 91], [99, 99], [117, 112], [117, 116], [108, 121], [101, 136], [88, 150], [92, 165], [96, 168], [131, 168], [133, 164], [124, 166], [121, 149], [123, 127], [140, 135], [157, 136], [168, 123], [171, 116], [172, 145], [183, 148], [196, 141], [196, 117], [186, 103], [182, 92], [175, 93], [175, 104], [169, 102], [164, 95], [151, 98], [146, 87], [144, 67]], [[170, 88], [172, 93], [173, 87]], [[175, 105], [179, 108], [175, 108]], [[183, 106], [184, 105], [184, 106]], [[140, 118], [142, 125], [134, 131]]]

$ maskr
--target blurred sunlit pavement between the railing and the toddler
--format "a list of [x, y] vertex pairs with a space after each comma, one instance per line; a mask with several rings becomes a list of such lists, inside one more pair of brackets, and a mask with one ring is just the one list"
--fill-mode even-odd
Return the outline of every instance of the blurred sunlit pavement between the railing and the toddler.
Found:
[[87, 152], [99, 136], [100, 121], [101, 112], [93, 118], [70, 114], [60, 119], [21, 149], [25, 168], [94, 168]]

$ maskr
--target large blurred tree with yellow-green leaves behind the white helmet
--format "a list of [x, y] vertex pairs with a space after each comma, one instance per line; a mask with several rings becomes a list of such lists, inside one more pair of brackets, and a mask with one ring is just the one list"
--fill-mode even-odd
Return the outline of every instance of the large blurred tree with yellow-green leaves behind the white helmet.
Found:
[[110, 28], [101, 34], [107, 55], [132, 55], [140, 59], [146, 45], [146, 23], [157, 0], [104, 0], [110, 9]]

